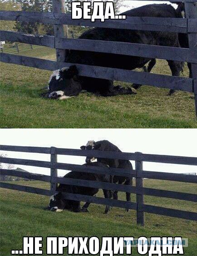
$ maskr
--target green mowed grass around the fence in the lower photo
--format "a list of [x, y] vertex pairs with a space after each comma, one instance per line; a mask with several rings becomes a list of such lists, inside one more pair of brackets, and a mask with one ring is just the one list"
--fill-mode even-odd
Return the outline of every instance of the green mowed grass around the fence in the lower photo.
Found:
[[[18, 181], [24, 184], [49, 189], [49, 184], [40, 181]], [[195, 194], [196, 184], [145, 179], [145, 186], [158, 189], [181, 191]], [[119, 199], [125, 200], [125, 194], [119, 193]], [[103, 196], [99, 191], [98, 196]], [[196, 256], [197, 225], [192, 220], [182, 220], [162, 215], [145, 214], [145, 226], [136, 224], [136, 211], [126, 212], [113, 208], [104, 215], [104, 205], [92, 204], [89, 213], [74, 213], [64, 210], [60, 213], [44, 210], [49, 198], [42, 195], [0, 189], [0, 255], [9, 256], [11, 249], [22, 249], [23, 236], [43, 236], [43, 249], [46, 255], [46, 236], [182, 236], [188, 238], [188, 247], [184, 255]], [[132, 201], [135, 195], [132, 194]], [[145, 196], [145, 203], [179, 210], [196, 211], [197, 204], [184, 200], [174, 200]], [[136, 248], [132, 255], [138, 255]], [[65, 255], [66, 253], [64, 253]]]

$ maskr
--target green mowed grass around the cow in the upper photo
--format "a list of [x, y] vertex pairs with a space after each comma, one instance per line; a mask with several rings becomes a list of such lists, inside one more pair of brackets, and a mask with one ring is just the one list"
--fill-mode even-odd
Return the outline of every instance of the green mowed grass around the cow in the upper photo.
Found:
[[[33, 46], [20, 55], [55, 59], [53, 49]], [[23, 47], [25, 49], [25, 47]], [[194, 96], [143, 86], [137, 95], [97, 97], [81, 93], [64, 101], [40, 97], [51, 72], [0, 62], [0, 127], [4, 128], [196, 128]], [[171, 75], [167, 61], [154, 73]], [[182, 76], [188, 77], [187, 67]], [[115, 82], [117, 85], [126, 85]], [[94, 86], [94, 85], [93, 85]]]

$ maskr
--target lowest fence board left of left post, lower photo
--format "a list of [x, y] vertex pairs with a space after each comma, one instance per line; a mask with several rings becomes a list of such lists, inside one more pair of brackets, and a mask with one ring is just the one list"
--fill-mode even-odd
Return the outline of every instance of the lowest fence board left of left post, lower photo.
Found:
[[49, 196], [51, 195], [50, 190], [47, 190], [47, 189], [39, 189], [39, 188], [22, 186], [17, 184], [10, 184], [5, 182], [0, 182], [0, 187], [4, 189], [20, 190], [24, 192], [33, 193], [33, 194], [39, 194], [39, 195], [49, 195]]

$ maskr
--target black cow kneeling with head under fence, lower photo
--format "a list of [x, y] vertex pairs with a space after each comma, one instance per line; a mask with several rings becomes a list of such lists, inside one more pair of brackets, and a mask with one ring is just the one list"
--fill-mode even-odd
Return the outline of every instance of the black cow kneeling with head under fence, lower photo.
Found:
[[[89, 164], [84, 164], [85, 166], [98, 166], [105, 169], [108, 169], [108, 166], [105, 164], [94, 162]], [[82, 173], [82, 172], [69, 172], [64, 176], [65, 178], [71, 179], [86, 179], [92, 181], [103, 181], [109, 182], [109, 175], [105, 174], [91, 174], [91, 173]], [[62, 192], [79, 194], [79, 195], [96, 195], [98, 189], [96, 188], [89, 188], [89, 187], [82, 187], [76, 185], [68, 185], [68, 184], [59, 184], [57, 188], [57, 193], [52, 195], [49, 200], [48, 209], [51, 211], [62, 211], [64, 209], [68, 209], [74, 212], [87, 212], [89, 203], [86, 203], [83, 208], [80, 208], [80, 201], [74, 200], [66, 200], [64, 199]], [[112, 192], [110, 190], [103, 189], [103, 194], [105, 198], [111, 198]], [[107, 214], [110, 210], [110, 206], [106, 206], [105, 213]]]

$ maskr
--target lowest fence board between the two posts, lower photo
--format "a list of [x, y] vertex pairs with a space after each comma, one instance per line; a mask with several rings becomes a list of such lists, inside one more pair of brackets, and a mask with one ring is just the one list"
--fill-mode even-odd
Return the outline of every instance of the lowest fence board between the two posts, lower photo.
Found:
[[110, 205], [114, 207], [128, 208], [132, 210], [137, 209], [136, 203], [122, 201], [122, 200], [113, 200], [108, 198], [95, 197], [90, 195], [71, 194], [66, 192], [62, 192], [62, 196], [64, 197], [64, 199], [68, 199], [68, 200], [83, 201], [83, 202], [89, 202], [89, 203], [94, 203], [99, 205]]

